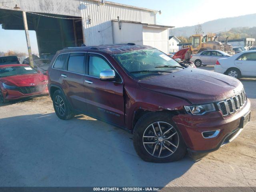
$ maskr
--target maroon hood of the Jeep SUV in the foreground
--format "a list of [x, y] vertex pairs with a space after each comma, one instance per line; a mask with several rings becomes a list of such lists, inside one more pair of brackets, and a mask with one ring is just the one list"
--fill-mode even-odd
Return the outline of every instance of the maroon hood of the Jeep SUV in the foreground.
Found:
[[192, 104], [224, 100], [234, 96], [243, 87], [235, 78], [198, 68], [186, 68], [140, 80], [139, 84], [148, 90], [185, 98]]

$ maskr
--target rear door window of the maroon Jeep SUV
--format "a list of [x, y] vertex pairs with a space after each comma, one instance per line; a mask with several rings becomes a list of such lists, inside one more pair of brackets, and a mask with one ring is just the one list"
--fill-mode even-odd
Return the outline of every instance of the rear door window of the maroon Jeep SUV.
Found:
[[68, 60], [68, 71], [80, 74], [85, 73], [85, 54], [71, 53]]

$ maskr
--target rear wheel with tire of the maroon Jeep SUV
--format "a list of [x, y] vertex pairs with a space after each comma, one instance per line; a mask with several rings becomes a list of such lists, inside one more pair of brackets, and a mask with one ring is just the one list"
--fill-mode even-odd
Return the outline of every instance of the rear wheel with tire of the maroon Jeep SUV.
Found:
[[68, 120], [74, 117], [74, 111], [61, 90], [54, 92], [52, 103], [58, 118]]

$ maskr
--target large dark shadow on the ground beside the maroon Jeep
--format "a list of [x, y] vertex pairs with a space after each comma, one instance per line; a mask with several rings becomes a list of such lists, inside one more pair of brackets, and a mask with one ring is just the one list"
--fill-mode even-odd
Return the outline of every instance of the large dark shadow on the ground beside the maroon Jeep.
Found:
[[166, 186], [194, 163], [144, 162], [131, 134], [54, 113], [1, 119], [0, 160], [0, 186]]

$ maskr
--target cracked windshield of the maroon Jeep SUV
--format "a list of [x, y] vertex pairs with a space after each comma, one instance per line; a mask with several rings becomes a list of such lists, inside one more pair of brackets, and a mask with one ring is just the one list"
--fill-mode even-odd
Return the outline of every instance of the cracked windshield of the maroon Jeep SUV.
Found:
[[174, 59], [155, 48], [112, 56], [134, 78], [160, 75], [163, 72], [170, 73], [170, 71], [183, 68]]

